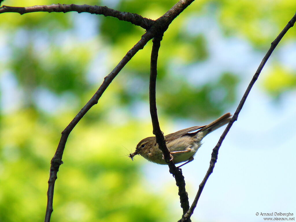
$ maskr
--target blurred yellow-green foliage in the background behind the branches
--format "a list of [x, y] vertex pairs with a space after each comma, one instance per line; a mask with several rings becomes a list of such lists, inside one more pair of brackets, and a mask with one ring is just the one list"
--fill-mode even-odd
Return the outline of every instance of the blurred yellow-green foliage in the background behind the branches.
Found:
[[[52, 3], [57, 2], [4, 1], [9, 6]], [[107, 1], [59, 3], [111, 7]], [[126, 0], [115, 9], [156, 19], [175, 3]], [[295, 9], [294, 0], [195, 1], [190, 5], [170, 25], [160, 50], [157, 102], [163, 130], [174, 119], [217, 117], [237, 98], [240, 78], [234, 73], [220, 73], [211, 83], [195, 87], [184, 78], [186, 71], [170, 72], [175, 61], [186, 67], [209, 58], [207, 45], [211, 43], [205, 36], [184, 31], [190, 18], [213, 13], [225, 36], [239, 36], [265, 52]], [[49, 163], [60, 132], [144, 33], [115, 18], [89, 15], [79, 23], [79, 16], [85, 17], [75, 12], [0, 15], [0, 49], [5, 58], [0, 61], [0, 75], [13, 79], [21, 98], [8, 108], [6, 100], [1, 103], [0, 221], [43, 220]], [[97, 23], [88, 38], [81, 27], [87, 29], [88, 19], [93, 18]], [[283, 42], [295, 39], [295, 34], [295, 29], [290, 30]], [[128, 152], [122, 145], [133, 149], [152, 134], [149, 115], [139, 118], [135, 114], [139, 104], [148, 107], [150, 50], [151, 42], [70, 134], [55, 186], [52, 221], [176, 221], [181, 215], [181, 210], [171, 212], [165, 201], [166, 195], [177, 193], [153, 193], [144, 186], [141, 159], [131, 162], [121, 157]], [[94, 66], [97, 57], [101, 63]], [[295, 71], [280, 62], [273, 67], [263, 84], [266, 92], [279, 97], [295, 89]], [[213, 99], [217, 89], [225, 92], [219, 100]]]

